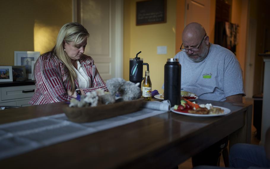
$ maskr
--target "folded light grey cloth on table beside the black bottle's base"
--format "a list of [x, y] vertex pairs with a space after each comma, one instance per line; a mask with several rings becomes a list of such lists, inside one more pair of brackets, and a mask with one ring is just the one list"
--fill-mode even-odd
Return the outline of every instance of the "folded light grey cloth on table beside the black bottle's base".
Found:
[[160, 101], [143, 101], [142, 107], [169, 112], [171, 110], [171, 102], [169, 100], [163, 100], [161, 102]]

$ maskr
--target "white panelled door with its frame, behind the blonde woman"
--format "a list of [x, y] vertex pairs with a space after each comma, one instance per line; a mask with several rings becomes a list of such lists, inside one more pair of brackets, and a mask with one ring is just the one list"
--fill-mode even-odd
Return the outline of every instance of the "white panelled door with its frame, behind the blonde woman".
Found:
[[123, 0], [73, 0], [73, 21], [88, 30], [85, 54], [102, 79], [123, 78]]

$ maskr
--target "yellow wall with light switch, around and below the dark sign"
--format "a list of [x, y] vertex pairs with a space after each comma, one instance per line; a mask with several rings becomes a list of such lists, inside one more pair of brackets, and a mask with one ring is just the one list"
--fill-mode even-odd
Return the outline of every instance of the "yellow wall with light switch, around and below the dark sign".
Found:
[[[124, 0], [124, 79], [129, 80], [129, 58], [142, 51], [139, 57], [149, 64], [152, 90], [163, 93], [164, 65], [175, 55], [176, 0], [167, 1], [166, 23], [142, 26], [136, 26], [136, 1]], [[167, 54], [157, 54], [157, 46], [167, 46]]]

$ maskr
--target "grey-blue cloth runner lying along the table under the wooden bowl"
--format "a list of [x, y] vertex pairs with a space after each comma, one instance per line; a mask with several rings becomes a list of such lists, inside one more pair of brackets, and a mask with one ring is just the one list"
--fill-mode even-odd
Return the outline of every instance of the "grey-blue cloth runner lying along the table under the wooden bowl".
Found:
[[0, 160], [165, 112], [142, 108], [134, 113], [89, 123], [71, 122], [63, 113], [1, 124]]

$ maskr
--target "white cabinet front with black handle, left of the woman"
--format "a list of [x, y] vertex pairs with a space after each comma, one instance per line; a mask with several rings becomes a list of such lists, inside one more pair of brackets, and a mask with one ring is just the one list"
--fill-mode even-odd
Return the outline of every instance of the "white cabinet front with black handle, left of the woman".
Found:
[[0, 87], [0, 106], [30, 106], [36, 85]]

